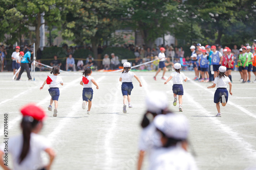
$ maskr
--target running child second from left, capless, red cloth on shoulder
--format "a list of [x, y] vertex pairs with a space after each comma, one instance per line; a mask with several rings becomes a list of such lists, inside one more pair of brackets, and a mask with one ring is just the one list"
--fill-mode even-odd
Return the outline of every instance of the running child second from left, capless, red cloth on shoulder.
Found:
[[91, 76], [93, 73], [91, 67], [85, 67], [82, 75], [82, 81], [80, 82], [80, 85], [83, 86], [82, 90], [82, 109], [86, 109], [87, 102], [88, 104], [88, 110], [87, 114], [90, 114], [91, 107], [92, 107], [92, 100], [93, 100], [93, 84], [96, 86], [96, 89], [99, 89], [98, 84], [95, 82], [94, 78]]

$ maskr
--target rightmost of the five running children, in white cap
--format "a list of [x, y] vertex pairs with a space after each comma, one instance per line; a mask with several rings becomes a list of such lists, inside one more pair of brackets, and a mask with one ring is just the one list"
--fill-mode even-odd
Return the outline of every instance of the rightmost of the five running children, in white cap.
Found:
[[217, 85], [217, 90], [214, 94], [214, 103], [216, 103], [218, 114], [217, 117], [221, 117], [221, 108], [220, 102], [222, 106], [226, 106], [228, 100], [228, 91], [227, 84], [229, 84], [229, 93], [232, 95], [231, 88], [232, 84], [230, 79], [225, 75], [227, 68], [225, 66], [219, 67], [219, 76], [215, 78], [214, 84], [207, 88], [214, 88]]

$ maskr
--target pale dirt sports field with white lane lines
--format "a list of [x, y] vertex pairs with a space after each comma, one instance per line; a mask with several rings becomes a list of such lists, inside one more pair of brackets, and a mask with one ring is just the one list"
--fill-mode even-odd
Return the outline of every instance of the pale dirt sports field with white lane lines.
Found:
[[[136, 169], [140, 121], [145, 112], [144, 98], [153, 90], [165, 91], [169, 109], [184, 114], [190, 123], [190, 150], [196, 154], [199, 169], [245, 169], [256, 165], [256, 83], [242, 84], [239, 72], [232, 72], [232, 92], [226, 107], [217, 114], [213, 102], [212, 83], [194, 80], [194, 72], [185, 71], [188, 81], [183, 83], [183, 112], [173, 106], [172, 81], [164, 85], [161, 74], [136, 72], [143, 87], [134, 79], [132, 109], [122, 113], [120, 72], [93, 72], [99, 85], [94, 86], [91, 114], [83, 110], [80, 72], [61, 73], [64, 86], [60, 87], [58, 115], [47, 110], [50, 101], [48, 86], [39, 90], [49, 72], [36, 72], [35, 81], [12, 81], [11, 72], [0, 74], [0, 140], [4, 138], [4, 113], [8, 113], [9, 137], [19, 130], [19, 108], [37, 103], [44, 108], [45, 119], [41, 134], [51, 140], [57, 156], [52, 169]], [[166, 72], [166, 78], [170, 72]], [[254, 75], [252, 79], [254, 80]], [[9, 160], [11, 163], [11, 160]], [[147, 159], [143, 169], [147, 167]]]

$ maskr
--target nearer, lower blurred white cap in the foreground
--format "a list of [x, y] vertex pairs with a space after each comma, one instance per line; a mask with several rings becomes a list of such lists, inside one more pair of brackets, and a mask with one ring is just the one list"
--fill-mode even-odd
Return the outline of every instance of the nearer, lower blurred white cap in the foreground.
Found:
[[187, 118], [182, 114], [160, 114], [154, 118], [154, 125], [169, 138], [186, 139], [189, 126]]

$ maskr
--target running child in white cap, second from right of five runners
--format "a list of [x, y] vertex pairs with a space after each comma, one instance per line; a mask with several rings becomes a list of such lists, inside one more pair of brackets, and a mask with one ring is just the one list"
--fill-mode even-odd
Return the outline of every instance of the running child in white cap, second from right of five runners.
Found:
[[170, 81], [172, 78], [173, 79], [173, 92], [174, 92], [174, 106], [177, 105], [177, 95], [179, 95], [179, 111], [182, 112], [182, 95], [183, 95], [183, 80], [186, 82], [187, 78], [183, 74], [183, 72], [180, 72], [181, 69], [181, 64], [180, 63], [175, 63], [174, 64], [175, 72], [172, 72], [170, 77], [164, 84], [167, 84], [168, 81]]

